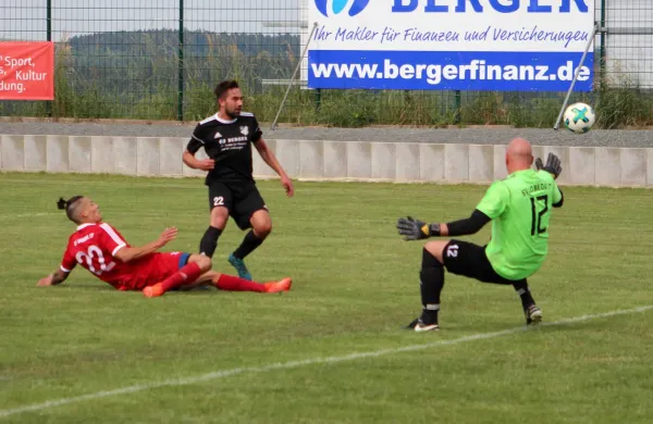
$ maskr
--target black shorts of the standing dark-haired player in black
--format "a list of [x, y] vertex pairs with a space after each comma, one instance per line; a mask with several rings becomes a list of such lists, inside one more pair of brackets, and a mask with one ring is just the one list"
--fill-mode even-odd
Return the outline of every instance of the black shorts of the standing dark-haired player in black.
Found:
[[254, 183], [210, 183], [209, 209], [226, 208], [241, 229], [251, 227], [249, 220], [256, 211], [268, 210]]

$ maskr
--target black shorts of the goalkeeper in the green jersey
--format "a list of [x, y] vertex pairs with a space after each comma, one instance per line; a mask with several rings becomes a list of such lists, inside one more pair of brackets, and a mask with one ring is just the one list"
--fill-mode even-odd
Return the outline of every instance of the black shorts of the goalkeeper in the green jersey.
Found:
[[451, 240], [442, 253], [444, 266], [452, 274], [475, 278], [483, 283], [514, 284], [523, 282], [502, 277], [494, 271], [485, 247], [463, 240]]

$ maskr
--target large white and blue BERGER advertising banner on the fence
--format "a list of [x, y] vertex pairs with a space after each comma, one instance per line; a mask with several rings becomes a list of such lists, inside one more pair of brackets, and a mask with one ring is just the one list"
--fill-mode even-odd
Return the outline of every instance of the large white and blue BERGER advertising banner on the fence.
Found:
[[308, 2], [309, 88], [566, 91], [594, 28], [594, 0]]

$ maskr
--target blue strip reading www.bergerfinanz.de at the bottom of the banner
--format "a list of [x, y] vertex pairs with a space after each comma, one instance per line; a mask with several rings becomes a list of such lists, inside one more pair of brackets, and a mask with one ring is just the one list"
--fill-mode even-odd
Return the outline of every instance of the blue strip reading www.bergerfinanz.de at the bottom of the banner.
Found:
[[[566, 91], [581, 52], [312, 50], [308, 87], [335, 89]], [[575, 91], [590, 91], [594, 54]]]

